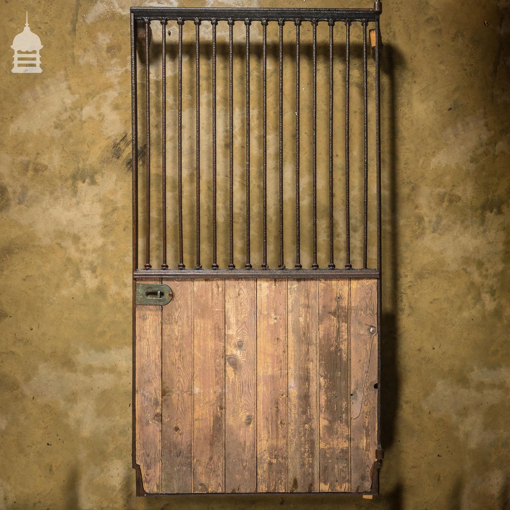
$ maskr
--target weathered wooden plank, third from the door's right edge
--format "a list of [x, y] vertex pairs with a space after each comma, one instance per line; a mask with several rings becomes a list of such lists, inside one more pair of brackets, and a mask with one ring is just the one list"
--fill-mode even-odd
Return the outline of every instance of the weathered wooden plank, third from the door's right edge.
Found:
[[319, 487], [318, 281], [289, 279], [287, 299], [288, 492], [317, 492]]

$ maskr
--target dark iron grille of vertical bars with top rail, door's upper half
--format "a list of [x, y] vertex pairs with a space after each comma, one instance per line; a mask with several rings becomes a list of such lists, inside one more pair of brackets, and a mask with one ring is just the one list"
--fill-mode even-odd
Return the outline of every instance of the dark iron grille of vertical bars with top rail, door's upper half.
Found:
[[[136, 28], [137, 21], [144, 23], [145, 29], [145, 108], [147, 130], [146, 156], [146, 246], [145, 269], [150, 264], [150, 80], [149, 47], [150, 20], [159, 19], [162, 25], [162, 233], [163, 262], [161, 268], [168, 269], [167, 264], [167, 216], [166, 216], [166, 24], [176, 20], [179, 25], [179, 122], [178, 122], [178, 179], [179, 179], [179, 269], [185, 269], [183, 254], [183, 193], [182, 193], [182, 63], [183, 63], [183, 25], [186, 20], [195, 23], [196, 44], [196, 264], [194, 269], [202, 269], [200, 263], [200, 23], [209, 20], [212, 24], [212, 141], [213, 141], [213, 253], [212, 269], [218, 269], [216, 239], [216, 25], [225, 20], [229, 25], [229, 132], [230, 132], [230, 262], [228, 269], [235, 269], [234, 264], [234, 118], [233, 118], [233, 26], [235, 21], [244, 21], [246, 25], [246, 263], [251, 269], [250, 261], [250, 24], [252, 21], [262, 23], [263, 44], [263, 260], [262, 269], [267, 264], [267, 105], [266, 105], [266, 28], [269, 21], [279, 25], [279, 265], [284, 265], [284, 223], [283, 223], [283, 27], [285, 21], [293, 21], [296, 26], [296, 264], [300, 269], [300, 187], [299, 187], [299, 73], [300, 73], [300, 25], [310, 21], [313, 28], [313, 126], [312, 126], [312, 172], [313, 172], [313, 263], [317, 264], [317, 24], [326, 21], [329, 25], [329, 269], [335, 268], [333, 242], [333, 27], [336, 21], [346, 25], [346, 107], [345, 107], [345, 220], [346, 220], [346, 262], [345, 268], [351, 269], [350, 261], [350, 218], [349, 218], [349, 62], [350, 62], [350, 24], [359, 21], [363, 25], [363, 85], [364, 85], [364, 231], [363, 231], [363, 268], [367, 269], [367, 216], [368, 216], [368, 113], [367, 113], [367, 25], [375, 23], [375, 40], [379, 41], [379, 15], [381, 2], [374, 3], [374, 9], [187, 9], [187, 8], [132, 8], [131, 9], [131, 66], [132, 66], [132, 114], [133, 114], [133, 253], [134, 271], [138, 269], [138, 119], [137, 119], [137, 65], [136, 65]], [[381, 213], [380, 213], [380, 70], [379, 44], [375, 45], [375, 145], [376, 145], [376, 200], [377, 200], [377, 272], [381, 261]]]

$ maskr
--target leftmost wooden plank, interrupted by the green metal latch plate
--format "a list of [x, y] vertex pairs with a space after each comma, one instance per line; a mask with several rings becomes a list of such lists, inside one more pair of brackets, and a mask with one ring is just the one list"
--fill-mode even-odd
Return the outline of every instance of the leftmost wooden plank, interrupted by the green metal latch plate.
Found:
[[[159, 283], [154, 280], [146, 283]], [[161, 492], [161, 307], [137, 305], [135, 442], [143, 489]]]

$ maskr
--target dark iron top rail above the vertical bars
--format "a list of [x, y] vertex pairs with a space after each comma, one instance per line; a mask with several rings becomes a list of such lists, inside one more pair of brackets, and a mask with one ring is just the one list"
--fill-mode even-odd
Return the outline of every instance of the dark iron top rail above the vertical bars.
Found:
[[191, 7], [132, 7], [135, 19], [193, 21], [375, 21], [382, 12], [381, 2], [373, 9], [308, 9], [308, 8], [191, 8]]

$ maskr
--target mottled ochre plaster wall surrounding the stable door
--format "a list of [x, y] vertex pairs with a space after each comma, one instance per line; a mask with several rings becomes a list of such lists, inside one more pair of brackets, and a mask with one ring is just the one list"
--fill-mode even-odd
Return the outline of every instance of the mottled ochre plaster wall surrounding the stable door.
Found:
[[[0, 508], [510, 508], [510, 5], [384, 3], [372, 502], [134, 496], [129, 7], [2, 3]], [[42, 74], [10, 72], [25, 9]]]

